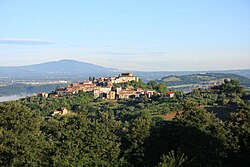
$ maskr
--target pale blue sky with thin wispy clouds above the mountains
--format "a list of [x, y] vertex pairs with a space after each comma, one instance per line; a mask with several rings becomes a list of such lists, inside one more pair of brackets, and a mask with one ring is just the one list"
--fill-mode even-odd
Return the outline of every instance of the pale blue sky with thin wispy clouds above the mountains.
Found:
[[249, 0], [0, 0], [0, 66], [250, 69]]

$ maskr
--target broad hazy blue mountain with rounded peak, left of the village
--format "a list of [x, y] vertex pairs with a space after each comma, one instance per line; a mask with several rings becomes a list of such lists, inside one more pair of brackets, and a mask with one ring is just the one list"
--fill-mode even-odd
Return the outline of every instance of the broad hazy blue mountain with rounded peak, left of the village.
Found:
[[116, 72], [116, 69], [105, 68], [75, 60], [60, 60], [42, 64], [0, 67], [0, 77], [14, 79], [72, 79], [77, 77], [99, 76]]

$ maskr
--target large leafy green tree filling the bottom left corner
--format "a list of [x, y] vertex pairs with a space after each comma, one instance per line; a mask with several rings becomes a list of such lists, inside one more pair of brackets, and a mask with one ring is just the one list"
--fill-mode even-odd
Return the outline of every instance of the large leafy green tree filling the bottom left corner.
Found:
[[16, 102], [0, 103], [0, 166], [46, 166], [42, 119]]

